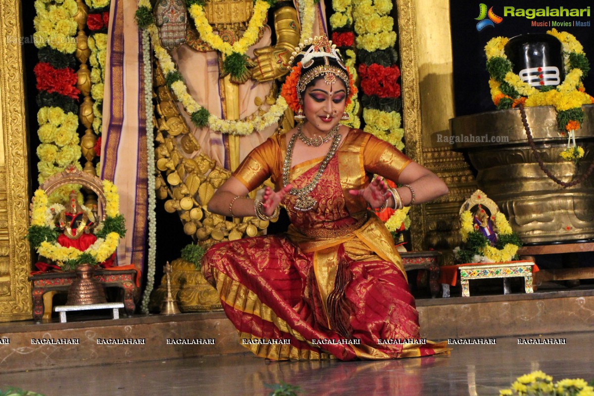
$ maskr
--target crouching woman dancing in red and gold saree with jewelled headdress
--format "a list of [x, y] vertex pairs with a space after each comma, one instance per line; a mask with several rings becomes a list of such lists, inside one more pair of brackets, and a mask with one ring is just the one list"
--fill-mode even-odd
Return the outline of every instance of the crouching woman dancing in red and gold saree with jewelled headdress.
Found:
[[[340, 125], [355, 88], [327, 37], [300, 45], [292, 66], [282, 94], [305, 122], [255, 148], [208, 204], [214, 213], [262, 220], [283, 205], [289, 230], [212, 246], [204, 275], [257, 356], [394, 359], [447, 351], [419, 338], [402, 259], [368, 210], [426, 202], [447, 186], [387, 142]], [[403, 186], [388, 189], [374, 173]], [[274, 189], [247, 198], [268, 178]]]

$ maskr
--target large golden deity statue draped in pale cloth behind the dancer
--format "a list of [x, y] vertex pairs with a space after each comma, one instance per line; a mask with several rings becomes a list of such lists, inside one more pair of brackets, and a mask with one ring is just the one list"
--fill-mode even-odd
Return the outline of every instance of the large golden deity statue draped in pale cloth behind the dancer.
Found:
[[[321, 10], [324, 6], [316, 8]], [[203, 15], [214, 34], [230, 45], [242, 40], [255, 12], [258, 11], [253, 0], [206, 0], [203, 6]], [[268, 14], [268, 17], [272, 16], [272, 20], [268, 21], [274, 23], [276, 37], [271, 37], [272, 30], [267, 24], [260, 27], [255, 44], [241, 54], [247, 59], [248, 72], [238, 77], [223, 71], [226, 55], [200, 36], [194, 24], [190, 23], [192, 14], [183, 1], [161, 0], [154, 7], [154, 14], [161, 45], [170, 50], [188, 93], [212, 115], [228, 120], [246, 119], [267, 111], [276, 99], [273, 82], [288, 71], [286, 65], [291, 52], [301, 38], [295, 5], [279, 2]], [[321, 18], [324, 15], [314, 18], [314, 33], [320, 30], [318, 20]], [[224, 135], [208, 127], [198, 128], [180, 103], [178, 107], [197, 142], [193, 151], [188, 152], [184, 147], [181, 152], [188, 158], [204, 153], [217, 165], [229, 170], [235, 169], [252, 148], [261, 144], [277, 128], [275, 123], [247, 136]]]

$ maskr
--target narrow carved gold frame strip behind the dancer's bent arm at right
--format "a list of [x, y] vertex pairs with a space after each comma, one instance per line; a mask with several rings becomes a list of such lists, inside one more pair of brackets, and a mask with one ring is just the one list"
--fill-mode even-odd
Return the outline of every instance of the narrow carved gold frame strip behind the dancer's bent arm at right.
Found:
[[[414, 0], [396, 0], [398, 12], [398, 39], [400, 45], [400, 71], [402, 72], [403, 128], [406, 155], [424, 165], [421, 131], [421, 99], [419, 70], [416, 54], [416, 11]], [[410, 240], [415, 251], [422, 250], [426, 236], [425, 205], [415, 205], [409, 212]]]

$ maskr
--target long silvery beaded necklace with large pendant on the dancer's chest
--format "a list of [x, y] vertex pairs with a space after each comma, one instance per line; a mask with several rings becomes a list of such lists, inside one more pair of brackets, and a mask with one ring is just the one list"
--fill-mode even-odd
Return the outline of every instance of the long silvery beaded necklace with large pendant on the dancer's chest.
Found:
[[[336, 131], [337, 130], [338, 128], [336, 128]], [[328, 150], [328, 154], [326, 154], [326, 157], [324, 157], [324, 160], [321, 162], [320, 167], [318, 167], [317, 172], [315, 172], [314, 179], [312, 179], [311, 182], [309, 182], [309, 184], [306, 186], [303, 186], [301, 188], [290, 189], [289, 194], [295, 195], [295, 197], [297, 197], [297, 200], [295, 201], [295, 206], [293, 207], [295, 210], [307, 212], [308, 210], [312, 210], [313, 208], [315, 208], [315, 205], [318, 204], [318, 201], [310, 197], [309, 193], [314, 191], [315, 186], [317, 186], [318, 182], [320, 182], [322, 173], [324, 173], [324, 170], [326, 170], [326, 166], [328, 166], [328, 163], [330, 162], [332, 157], [334, 157], [334, 154], [336, 154], [338, 144], [340, 142], [340, 139], [342, 138], [342, 135], [337, 134], [336, 131], [334, 132], [334, 138], [332, 141], [332, 145], [330, 146], [330, 150]], [[285, 157], [285, 162], [283, 163], [284, 186], [289, 185], [289, 169], [291, 166], [291, 158], [293, 157], [293, 146], [295, 145], [295, 140], [298, 137], [298, 134], [299, 133], [294, 134], [291, 137], [289, 144], [287, 145], [287, 155]]]

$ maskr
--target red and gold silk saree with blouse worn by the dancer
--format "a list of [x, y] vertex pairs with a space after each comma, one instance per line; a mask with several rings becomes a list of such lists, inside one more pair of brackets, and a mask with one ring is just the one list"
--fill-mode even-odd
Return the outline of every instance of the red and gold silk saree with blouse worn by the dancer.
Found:
[[[271, 177], [282, 185], [283, 136], [256, 148], [234, 173], [248, 189]], [[298, 164], [289, 179], [307, 185], [321, 159]], [[351, 129], [311, 197], [314, 210], [283, 205], [283, 235], [217, 243], [203, 258], [240, 342], [257, 356], [285, 359], [395, 359], [447, 351], [419, 337], [418, 313], [390, 232], [366, 202], [348, 193], [372, 173], [391, 180], [410, 162], [391, 145]], [[283, 340], [283, 341], [274, 341]], [[412, 343], [404, 340], [416, 340]]]

